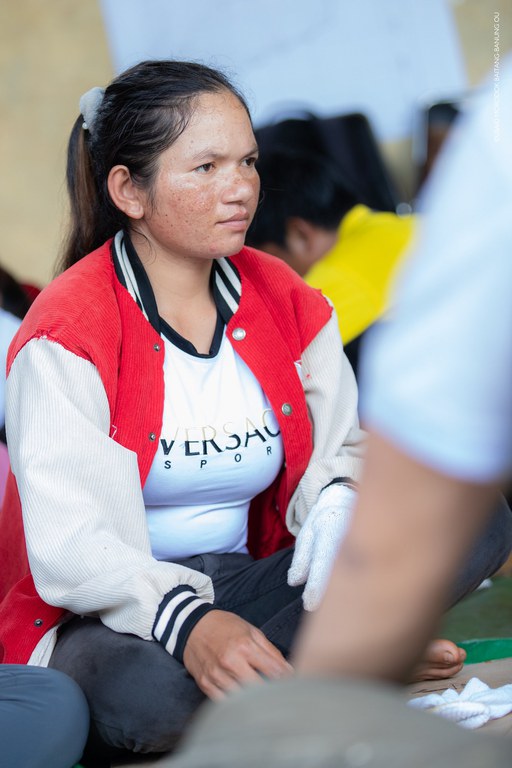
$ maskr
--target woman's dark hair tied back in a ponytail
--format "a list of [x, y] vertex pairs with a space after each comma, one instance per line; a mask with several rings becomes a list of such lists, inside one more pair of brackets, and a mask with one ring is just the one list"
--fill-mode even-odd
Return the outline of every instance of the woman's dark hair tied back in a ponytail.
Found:
[[105, 89], [92, 129], [81, 115], [68, 144], [66, 181], [70, 225], [60, 269], [66, 269], [125, 227], [128, 219], [110, 199], [107, 179], [126, 165], [136, 184], [149, 190], [158, 158], [184, 131], [201, 93], [243, 96], [221, 72], [197, 62], [143, 61]]

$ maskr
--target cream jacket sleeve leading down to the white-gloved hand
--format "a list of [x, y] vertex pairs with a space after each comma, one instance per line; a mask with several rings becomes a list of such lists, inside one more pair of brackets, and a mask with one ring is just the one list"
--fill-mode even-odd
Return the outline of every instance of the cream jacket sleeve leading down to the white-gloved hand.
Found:
[[298, 534], [323, 488], [336, 478], [360, 477], [364, 432], [357, 415], [357, 383], [343, 351], [333, 310], [329, 322], [302, 355], [302, 382], [313, 425], [313, 453], [286, 512]]

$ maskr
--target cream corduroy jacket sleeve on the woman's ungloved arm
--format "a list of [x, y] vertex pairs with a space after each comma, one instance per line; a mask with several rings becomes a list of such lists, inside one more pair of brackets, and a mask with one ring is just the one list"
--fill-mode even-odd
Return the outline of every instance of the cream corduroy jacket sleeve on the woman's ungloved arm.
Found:
[[190, 588], [188, 603], [211, 607], [208, 577], [151, 555], [137, 457], [109, 437], [106, 393], [90, 362], [44, 338], [30, 341], [7, 380], [6, 417], [30, 567], [43, 600], [148, 640], [161, 640], [152, 631], [157, 614], [164, 621], [172, 590], [180, 595], [173, 605]]

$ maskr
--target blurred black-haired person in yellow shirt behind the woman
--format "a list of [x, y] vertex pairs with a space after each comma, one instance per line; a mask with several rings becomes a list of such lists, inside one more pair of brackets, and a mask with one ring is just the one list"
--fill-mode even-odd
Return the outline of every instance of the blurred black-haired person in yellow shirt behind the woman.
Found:
[[360, 204], [333, 161], [275, 149], [257, 164], [261, 200], [247, 243], [283, 259], [332, 301], [356, 376], [360, 342], [387, 307], [416, 217]]

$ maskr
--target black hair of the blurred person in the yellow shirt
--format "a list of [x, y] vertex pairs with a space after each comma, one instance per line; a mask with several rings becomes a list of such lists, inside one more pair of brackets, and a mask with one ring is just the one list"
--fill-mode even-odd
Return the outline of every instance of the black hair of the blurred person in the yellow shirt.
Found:
[[300, 150], [276, 149], [256, 164], [261, 200], [247, 233], [247, 243], [260, 248], [286, 245], [288, 220], [297, 216], [325, 229], [336, 229], [350, 208], [360, 202], [329, 158]]

